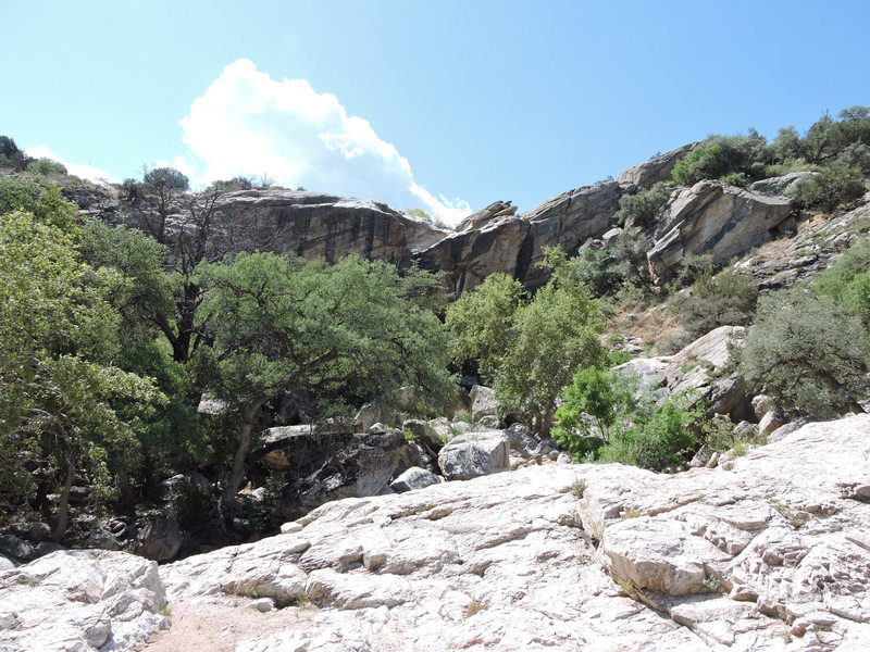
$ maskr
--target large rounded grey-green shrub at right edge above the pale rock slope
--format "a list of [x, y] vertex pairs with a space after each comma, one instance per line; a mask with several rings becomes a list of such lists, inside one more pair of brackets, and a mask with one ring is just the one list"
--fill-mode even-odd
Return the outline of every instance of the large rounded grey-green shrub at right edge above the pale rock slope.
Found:
[[830, 297], [804, 288], [759, 302], [741, 372], [780, 410], [832, 417], [865, 398], [870, 343], [860, 319]]

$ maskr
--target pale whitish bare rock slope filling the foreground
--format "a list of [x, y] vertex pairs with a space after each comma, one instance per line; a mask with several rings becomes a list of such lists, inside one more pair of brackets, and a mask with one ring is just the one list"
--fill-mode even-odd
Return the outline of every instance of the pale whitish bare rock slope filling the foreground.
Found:
[[[135, 579], [152, 563], [125, 553], [54, 553], [0, 574], [0, 649], [136, 649], [123, 623], [159, 627], [165, 587], [202, 618], [281, 607], [223, 648], [248, 652], [857, 652], [870, 645], [868, 523], [859, 415], [730, 469], [549, 464], [339, 500], [276, 537], [162, 566], [160, 586]], [[62, 637], [46, 637], [46, 613]]]

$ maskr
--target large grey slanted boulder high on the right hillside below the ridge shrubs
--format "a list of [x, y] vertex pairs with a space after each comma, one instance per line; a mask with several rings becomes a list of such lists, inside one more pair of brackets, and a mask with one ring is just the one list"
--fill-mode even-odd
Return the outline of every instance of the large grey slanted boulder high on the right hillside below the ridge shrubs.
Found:
[[664, 283], [685, 255], [709, 254], [713, 263], [725, 263], [770, 240], [791, 213], [787, 199], [699, 181], [666, 204], [647, 252], [650, 271]]

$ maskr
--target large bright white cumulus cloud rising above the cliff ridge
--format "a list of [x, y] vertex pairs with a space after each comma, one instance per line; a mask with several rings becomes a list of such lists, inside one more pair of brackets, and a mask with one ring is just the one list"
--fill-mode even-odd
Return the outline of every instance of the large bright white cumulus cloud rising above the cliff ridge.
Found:
[[226, 66], [181, 125], [202, 184], [269, 175], [291, 188], [420, 206], [450, 224], [471, 212], [468, 202], [420, 186], [396, 147], [334, 95], [306, 79], [275, 80], [247, 59]]

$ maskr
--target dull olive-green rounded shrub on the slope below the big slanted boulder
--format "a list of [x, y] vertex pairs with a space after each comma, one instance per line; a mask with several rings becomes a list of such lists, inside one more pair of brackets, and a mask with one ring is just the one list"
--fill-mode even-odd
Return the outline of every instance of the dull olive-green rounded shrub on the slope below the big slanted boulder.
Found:
[[674, 300], [683, 328], [697, 338], [719, 326], [744, 326], [755, 314], [758, 288], [751, 276], [735, 269], [701, 273], [691, 293]]

